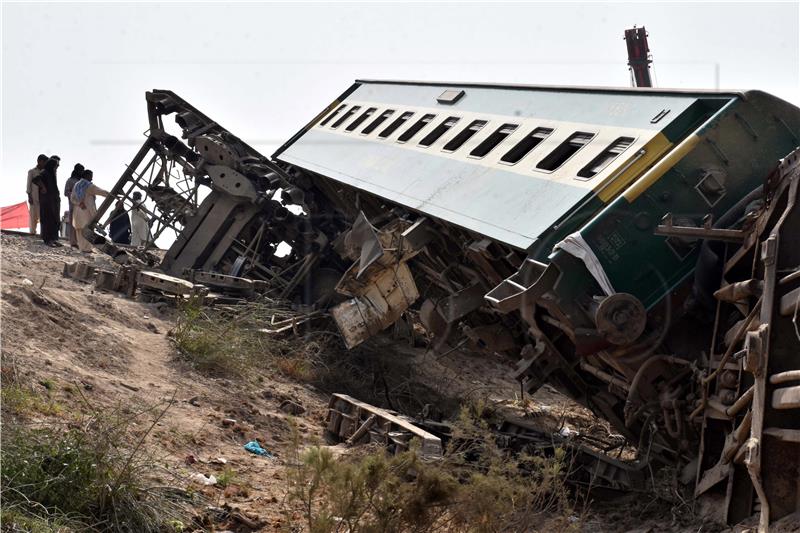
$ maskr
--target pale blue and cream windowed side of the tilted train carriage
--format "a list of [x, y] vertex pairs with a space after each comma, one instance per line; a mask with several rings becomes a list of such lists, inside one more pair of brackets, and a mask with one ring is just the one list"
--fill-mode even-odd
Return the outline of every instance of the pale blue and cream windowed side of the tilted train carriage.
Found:
[[358, 80], [273, 157], [526, 249], [740, 96]]

